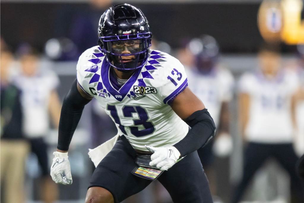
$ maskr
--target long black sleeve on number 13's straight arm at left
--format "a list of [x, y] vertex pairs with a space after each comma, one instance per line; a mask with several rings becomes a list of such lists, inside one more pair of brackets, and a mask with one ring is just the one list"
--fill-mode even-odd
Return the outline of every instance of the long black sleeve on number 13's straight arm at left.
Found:
[[69, 149], [74, 131], [80, 120], [82, 111], [91, 100], [85, 99], [77, 89], [77, 79], [74, 80], [70, 91], [64, 98], [61, 108], [57, 149]]

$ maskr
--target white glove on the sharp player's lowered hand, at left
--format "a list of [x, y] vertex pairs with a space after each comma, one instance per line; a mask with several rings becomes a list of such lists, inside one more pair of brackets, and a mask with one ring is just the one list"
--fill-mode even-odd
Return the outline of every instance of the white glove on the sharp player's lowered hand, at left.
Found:
[[55, 183], [71, 185], [72, 175], [71, 166], [67, 152], [54, 152], [55, 155], [51, 166], [51, 177]]

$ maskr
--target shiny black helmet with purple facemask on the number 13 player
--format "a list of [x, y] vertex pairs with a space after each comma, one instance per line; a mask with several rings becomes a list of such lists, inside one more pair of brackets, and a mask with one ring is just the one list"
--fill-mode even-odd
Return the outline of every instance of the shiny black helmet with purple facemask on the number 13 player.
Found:
[[136, 70], [147, 62], [152, 33], [140, 9], [130, 4], [110, 7], [100, 17], [98, 37], [102, 52], [114, 68]]

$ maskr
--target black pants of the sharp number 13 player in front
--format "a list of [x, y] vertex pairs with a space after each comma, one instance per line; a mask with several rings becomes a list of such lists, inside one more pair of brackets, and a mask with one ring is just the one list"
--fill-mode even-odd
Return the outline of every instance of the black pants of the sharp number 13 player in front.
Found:
[[[98, 164], [89, 187], [103, 187], [110, 191], [114, 201], [121, 202], [142, 191], [152, 180], [131, 173], [136, 167], [136, 152], [124, 136]], [[174, 203], [212, 203], [209, 183], [197, 152], [188, 154], [157, 180], [168, 190]]]

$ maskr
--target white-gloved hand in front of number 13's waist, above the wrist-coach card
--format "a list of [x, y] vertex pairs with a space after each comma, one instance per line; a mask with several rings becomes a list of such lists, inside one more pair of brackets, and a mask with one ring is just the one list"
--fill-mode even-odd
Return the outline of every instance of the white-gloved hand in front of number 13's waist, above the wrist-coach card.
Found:
[[145, 145], [145, 147], [152, 152], [150, 166], [155, 166], [159, 170], [168, 170], [171, 168], [181, 156], [179, 151], [171, 147], [152, 147]]

